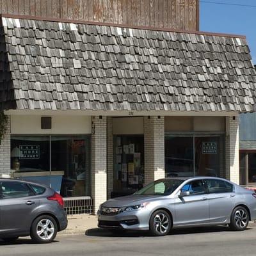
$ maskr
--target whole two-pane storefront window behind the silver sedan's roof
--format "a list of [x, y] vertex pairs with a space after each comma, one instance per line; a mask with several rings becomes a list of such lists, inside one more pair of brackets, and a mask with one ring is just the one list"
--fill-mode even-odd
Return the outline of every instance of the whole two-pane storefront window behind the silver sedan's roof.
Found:
[[209, 134], [166, 134], [164, 140], [166, 177], [223, 176], [224, 136]]

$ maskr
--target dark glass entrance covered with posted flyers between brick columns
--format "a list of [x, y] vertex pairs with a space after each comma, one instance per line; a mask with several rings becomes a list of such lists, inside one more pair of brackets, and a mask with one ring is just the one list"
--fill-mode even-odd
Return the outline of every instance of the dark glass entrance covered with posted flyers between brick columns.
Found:
[[114, 136], [114, 184], [112, 197], [129, 195], [143, 187], [143, 135]]

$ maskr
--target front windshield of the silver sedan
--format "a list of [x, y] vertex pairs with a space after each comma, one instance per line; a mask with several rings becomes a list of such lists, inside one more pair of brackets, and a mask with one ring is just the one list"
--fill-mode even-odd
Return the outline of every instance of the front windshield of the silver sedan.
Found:
[[178, 179], [163, 179], [156, 180], [144, 188], [140, 189], [134, 195], [171, 195], [175, 189], [177, 189], [184, 180]]

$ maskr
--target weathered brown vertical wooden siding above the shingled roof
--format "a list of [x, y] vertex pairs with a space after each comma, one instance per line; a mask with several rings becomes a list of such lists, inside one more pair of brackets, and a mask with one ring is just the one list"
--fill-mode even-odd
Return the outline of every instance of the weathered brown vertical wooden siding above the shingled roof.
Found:
[[198, 30], [198, 0], [0, 0], [0, 13]]

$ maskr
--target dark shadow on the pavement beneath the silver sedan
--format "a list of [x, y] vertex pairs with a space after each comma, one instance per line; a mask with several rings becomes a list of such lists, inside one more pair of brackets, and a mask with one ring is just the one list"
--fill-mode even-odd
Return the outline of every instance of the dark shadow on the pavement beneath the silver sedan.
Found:
[[[252, 228], [247, 228], [250, 230]], [[186, 235], [186, 234], [200, 234], [200, 233], [216, 233], [216, 232], [236, 232], [230, 230], [228, 226], [216, 227], [193, 227], [193, 228], [177, 228], [170, 231], [168, 236], [172, 235]], [[152, 237], [148, 231], [137, 230], [107, 230], [104, 228], [92, 228], [85, 232], [86, 236], [99, 236], [99, 237]]]

